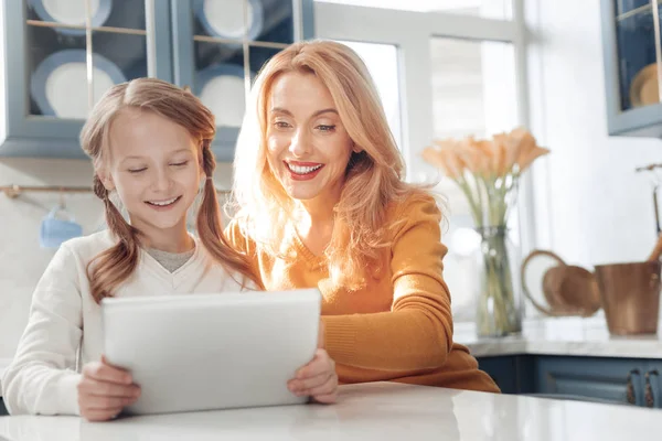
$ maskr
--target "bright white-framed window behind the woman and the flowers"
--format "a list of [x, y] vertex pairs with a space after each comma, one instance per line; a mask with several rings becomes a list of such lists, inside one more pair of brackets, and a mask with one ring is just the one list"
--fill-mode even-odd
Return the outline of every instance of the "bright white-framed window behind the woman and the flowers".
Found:
[[[325, 0], [316, 2], [317, 36], [350, 44], [366, 61], [371, 74], [399, 106], [402, 151], [410, 181], [438, 181], [439, 173], [420, 157], [436, 138], [489, 137], [526, 126], [523, 26], [510, 0]], [[514, 4], [522, 8], [522, 2]], [[521, 17], [522, 14], [516, 14]], [[388, 47], [383, 53], [377, 51]], [[387, 82], [378, 79], [384, 66]], [[397, 82], [397, 87], [393, 84]], [[394, 96], [393, 94], [388, 95]], [[397, 103], [397, 105], [396, 105]], [[388, 112], [388, 107], [386, 108]], [[394, 128], [395, 127], [395, 128]], [[463, 195], [441, 180], [450, 213], [442, 240], [449, 248], [445, 278], [456, 321], [472, 321], [476, 268], [469, 262], [478, 246]], [[526, 190], [525, 190], [526, 191]], [[522, 251], [533, 244], [532, 209], [525, 204], [511, 219], [511, 240]]]

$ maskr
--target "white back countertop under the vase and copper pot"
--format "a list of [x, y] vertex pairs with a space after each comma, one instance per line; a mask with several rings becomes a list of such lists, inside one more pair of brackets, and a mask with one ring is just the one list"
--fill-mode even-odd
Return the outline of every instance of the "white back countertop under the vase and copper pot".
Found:
[[662, 330], [656, 335], [611, 336], [601, 314], [528, 320], [522, 327], [521, 335], [478, 338], [472, 324], [459, 323], [453, 340], [467, 345], [477, 357], [545, 354], [662, 359]]

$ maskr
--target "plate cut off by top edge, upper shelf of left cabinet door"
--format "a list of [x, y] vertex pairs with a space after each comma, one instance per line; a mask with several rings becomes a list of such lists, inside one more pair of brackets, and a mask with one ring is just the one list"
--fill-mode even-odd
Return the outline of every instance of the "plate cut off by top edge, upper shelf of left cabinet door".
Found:
[[[92, 25], [98, 28], [104, 25], [110, 10], [113, 0], [87, 0], [92, 12]], [[85, 2], [81, 0], [30, 0], [30, 6], [39, 18], [46, 22], [85, 25]], [[65, 35], [85, 35], [83, 29], [55, 28], [55, 31]]]

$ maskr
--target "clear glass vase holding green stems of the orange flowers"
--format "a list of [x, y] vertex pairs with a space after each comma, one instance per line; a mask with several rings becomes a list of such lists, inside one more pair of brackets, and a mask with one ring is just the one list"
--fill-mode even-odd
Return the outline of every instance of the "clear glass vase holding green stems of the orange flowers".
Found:
[[519, 295], [515, 294], [517, 252], [508, 238], [505, 226], [477, 228], [481, 246], [479, 259], [480, 283], [476, 329], [478, 336], [501, 337], [522, 331]]

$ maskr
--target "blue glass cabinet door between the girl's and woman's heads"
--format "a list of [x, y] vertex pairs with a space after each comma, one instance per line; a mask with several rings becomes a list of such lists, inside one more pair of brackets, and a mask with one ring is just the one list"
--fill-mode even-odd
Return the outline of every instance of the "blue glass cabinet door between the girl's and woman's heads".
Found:
[[172, 0], [174, 83], [214, 112], [213, 150], [232, 161], [246, 97], [276, 53], [312, 36], [312, 0]]

